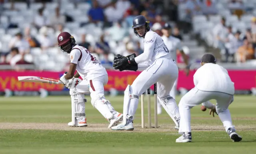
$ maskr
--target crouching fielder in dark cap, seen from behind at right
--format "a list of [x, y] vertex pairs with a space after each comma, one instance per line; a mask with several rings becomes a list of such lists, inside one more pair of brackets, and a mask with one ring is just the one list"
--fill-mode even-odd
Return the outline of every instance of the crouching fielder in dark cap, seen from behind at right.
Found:
[[[232, 125], [232, 119], [228, 106], [234, 101], [234, 83], [231, 81], [228, 71], [216, 64], [212, 54], [202, 56], [201, 67], [194, 74], [195, 87], [186, 93], [180, 100], [180, 128], [176, 142], [191, 142], [190, 109], [202, 103], [210, 109], [210, 115], [214, 113], [220, 117], [226, 132], [234, 142], [239, 142], [242, 137], [236, 133]], [[215, 99], [216, 106], [209, 100]]]

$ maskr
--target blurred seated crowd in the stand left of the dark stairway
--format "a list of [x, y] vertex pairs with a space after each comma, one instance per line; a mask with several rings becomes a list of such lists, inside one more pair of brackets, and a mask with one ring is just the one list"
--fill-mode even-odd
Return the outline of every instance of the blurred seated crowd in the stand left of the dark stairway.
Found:
[[[162, 26], [168, 22], [159, 7], [163, 2], [158, 0], [25, 0], [22, 5], [20, 1], [0, 0], [2, 65], [46, 66], [40, 61], [49, 64], [53, 53], [62, 54], [60, 49], [56, 51], [56, 37], [67, 31], [102, 64], [112, 66], [116, 54], [140, 55], [143, 52], [143, 39], [137, 38], [131, 27], [135, 16], [146, 16], [152, 30], [161, 36]], [[173, 36], [182, 39], [178, 27], [173, 28]], [[66, 66], [63, 69], [67, 68], [68, 56], [62, 62]], [[56, 65], [42, 67], [54, 68]]]

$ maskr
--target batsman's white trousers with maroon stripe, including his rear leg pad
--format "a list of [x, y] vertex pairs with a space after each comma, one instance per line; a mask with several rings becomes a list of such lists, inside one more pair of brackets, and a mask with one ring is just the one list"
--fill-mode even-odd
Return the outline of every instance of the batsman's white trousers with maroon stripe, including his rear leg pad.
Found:
[[116, 111], [110, 101], [104, 96], [104, 85], [108, 83], [108, 75], [96, 77], [92, 80], [84, 79], [76, 86], [78, 93], [90, 93], [92, 106], [95, 107], [106, 119], [110, 120]]

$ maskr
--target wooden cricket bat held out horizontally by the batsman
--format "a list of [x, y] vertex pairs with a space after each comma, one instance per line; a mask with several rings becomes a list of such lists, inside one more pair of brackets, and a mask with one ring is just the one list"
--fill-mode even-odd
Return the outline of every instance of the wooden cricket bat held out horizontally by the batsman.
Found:
[[49, 79], [45, 77], [35, 77], [35, 76], [22, 76], [18, 77], [18, 80], [21, 82], [39, 82], [39, 83], [50, 83], [50, 84], [59, 84], [59, 80]]

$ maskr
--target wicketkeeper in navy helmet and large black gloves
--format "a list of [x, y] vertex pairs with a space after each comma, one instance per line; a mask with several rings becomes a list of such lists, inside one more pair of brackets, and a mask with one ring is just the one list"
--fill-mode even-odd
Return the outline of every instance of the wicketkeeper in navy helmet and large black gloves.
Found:
[[162, 38], [150, 30], [149, 21], [144, 16], [136, 16], [132, 28], [136, 36], [144, 38], [144, 53], [138, 57], [135, 54], [127, 57], [116, 55], [113, 67], [120, 71], [138, 69], [144, 71], [138, 75], [132, 85], [126, 87], [123, 123], [113, 126], [112, 130], [134, 130], [133, 119], [138, 108], [139, 96], [154, 83], [157, 83], [157, 89], [161, 91], [158, 95], [161, 105], [178, 125], [180, 118], [178, 106], [169, 95], [178, 77], [176, 62], [172, 59]]

